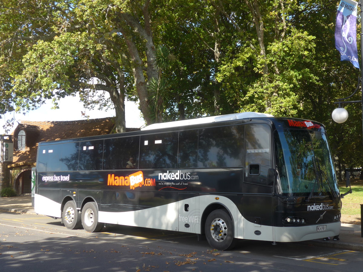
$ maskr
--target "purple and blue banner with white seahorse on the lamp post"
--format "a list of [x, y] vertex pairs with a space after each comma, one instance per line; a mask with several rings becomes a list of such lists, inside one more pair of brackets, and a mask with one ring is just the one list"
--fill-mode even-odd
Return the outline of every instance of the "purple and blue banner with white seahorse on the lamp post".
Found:
[[357, 5], [352, 0], [341, 0], [338, 6], [335, 25], [335, 48], [340, 53], [341, 61], [350, 61], [359, 69], [356, 23]]

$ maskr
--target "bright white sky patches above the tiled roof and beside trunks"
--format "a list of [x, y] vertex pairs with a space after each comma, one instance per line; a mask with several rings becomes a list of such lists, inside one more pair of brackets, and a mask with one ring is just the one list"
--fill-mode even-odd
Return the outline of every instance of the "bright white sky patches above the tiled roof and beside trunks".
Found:
[[[11, 119], [15, 117], [16, 126], [18, 123], [17, 120], [26, 120], [26, 121], [72, 121], [72, 120], [82, 120], [86, 119], [82, 117], [81, 111], [86, 112], [86, 115], [89, 115], [89, 119], [95, 118], [105, 118], [115, 116], [115, 111], [99, 111], [99, 110], [86, 110], [83, 107], [83, 103], [79, 102], [79, 97], [65, 97], [59, 101], [59, 109], [52, 110], [52, 100], [47, 101], [45, 104], [40, 106], [37, 110], [30, 111], [24, 114], [3, 114], [0, 119], [0, 134], [7, 134], [3, 128], [5, 121], [7, 119]], [[125, 109], [126, 109], [126, 127], [127, 128], [140, 128], [145, 122], [141, 117], [141, 112], [138, 109], [139, 104], [126, 101]], [[12, 132], [13, 128], [9, 131]]]

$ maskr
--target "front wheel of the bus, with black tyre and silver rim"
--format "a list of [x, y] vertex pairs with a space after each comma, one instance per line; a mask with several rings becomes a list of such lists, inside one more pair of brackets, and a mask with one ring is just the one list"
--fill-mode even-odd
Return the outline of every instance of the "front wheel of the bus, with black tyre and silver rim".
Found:
[[205, 221], [205, 237], [211, 247], [229, 250], [234, 247], [234, 229], [231, 217], [225, 210], [212, 211]]

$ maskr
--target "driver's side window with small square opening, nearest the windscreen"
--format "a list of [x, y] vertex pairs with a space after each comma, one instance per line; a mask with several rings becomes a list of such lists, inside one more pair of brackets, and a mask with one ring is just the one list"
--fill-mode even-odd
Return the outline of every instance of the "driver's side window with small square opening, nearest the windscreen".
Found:
[[246, 182], [266, 184], [271, 168], [271, 129], [267, 124], [246, 124]]

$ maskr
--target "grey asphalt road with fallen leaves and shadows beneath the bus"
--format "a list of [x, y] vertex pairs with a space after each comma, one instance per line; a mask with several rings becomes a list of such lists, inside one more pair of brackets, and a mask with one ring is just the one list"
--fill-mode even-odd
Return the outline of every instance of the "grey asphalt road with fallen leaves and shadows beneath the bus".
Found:
[[0, 213], [0, 264], [10, 271], [360, 271], [362, 252], [241, 240], [216, 251], [197, 235], [137, 227], [68, 230], [60, 219]]

